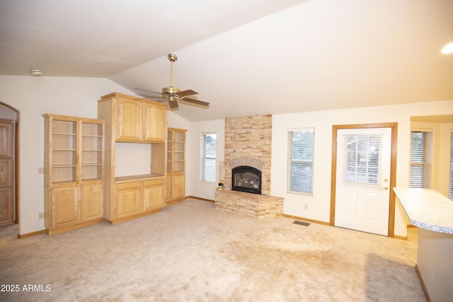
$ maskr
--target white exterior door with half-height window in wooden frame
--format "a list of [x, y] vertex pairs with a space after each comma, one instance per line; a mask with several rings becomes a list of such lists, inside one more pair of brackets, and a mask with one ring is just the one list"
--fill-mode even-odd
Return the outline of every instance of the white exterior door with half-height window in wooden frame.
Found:
[[338, 129], [335, 226], [389, 234], [391, 128]]

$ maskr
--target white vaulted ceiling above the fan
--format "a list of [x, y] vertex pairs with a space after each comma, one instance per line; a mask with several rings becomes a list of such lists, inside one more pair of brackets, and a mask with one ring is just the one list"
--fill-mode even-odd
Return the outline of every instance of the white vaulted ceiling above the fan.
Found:
[[[173, 86], [214, 120], [453, 100], [451, 0], [0, 0], [0, 74]], [[101, 95], [100, 95], [101, 96]]]

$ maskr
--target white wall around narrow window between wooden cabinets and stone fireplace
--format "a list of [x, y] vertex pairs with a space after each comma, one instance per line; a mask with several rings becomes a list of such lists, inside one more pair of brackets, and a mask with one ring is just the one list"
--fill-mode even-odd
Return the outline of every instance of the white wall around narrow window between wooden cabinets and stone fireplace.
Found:
[[214, 200], [214, 192], [218, 186], [217, 181], [214, 183], [201, 181], [202, 134], [206, 132], [217, 133], [217, 162], [224, 161], [225, 120], [193, 122], [190, 132], [188, 132], [188, 147], [186, 147], [186, 150], [190, 150], [190, 157], [186, 157], [188, 159], [186, 163], [188, 173], [186, 173], [185, 194]]

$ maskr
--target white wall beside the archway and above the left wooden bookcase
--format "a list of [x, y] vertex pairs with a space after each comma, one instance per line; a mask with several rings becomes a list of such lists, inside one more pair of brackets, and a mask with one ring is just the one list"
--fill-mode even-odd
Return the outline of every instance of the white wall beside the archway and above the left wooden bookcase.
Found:
[[44, 229], [38, 214], [44, 211], [42, 174], [44, 164], [44, 120], [42, 114], [96, 118], [102, 95], [133, 94], [108, 79], [0, 76], [0, 101], [21, 112], [19, 233]]

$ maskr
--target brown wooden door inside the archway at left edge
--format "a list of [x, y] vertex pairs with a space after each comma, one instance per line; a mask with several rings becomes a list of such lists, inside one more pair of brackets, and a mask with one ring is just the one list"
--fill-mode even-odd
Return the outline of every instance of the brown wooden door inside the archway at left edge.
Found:
[[0, 120], [0, 226], [14, 223], [13, 121]]

